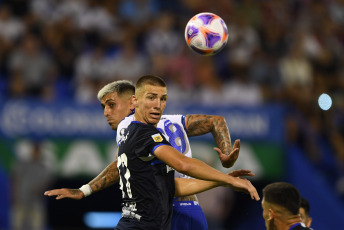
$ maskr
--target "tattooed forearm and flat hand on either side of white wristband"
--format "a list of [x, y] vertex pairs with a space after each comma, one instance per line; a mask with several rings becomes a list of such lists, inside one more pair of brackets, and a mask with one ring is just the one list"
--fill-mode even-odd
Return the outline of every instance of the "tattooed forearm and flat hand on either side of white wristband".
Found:
[[[91, 180], [88, 185], [91, 186], [92, 193], [101, 191], [110, 187], [119, 180], [119, 174], [117, 170], [117, 160], [109, 164], [98, 176]], [[57, 200], [70, 198], [80, 200], [84, 198], [84, 193], [80, 189], [53, 189], [44, 193], [46, 196], [56, 196]]]

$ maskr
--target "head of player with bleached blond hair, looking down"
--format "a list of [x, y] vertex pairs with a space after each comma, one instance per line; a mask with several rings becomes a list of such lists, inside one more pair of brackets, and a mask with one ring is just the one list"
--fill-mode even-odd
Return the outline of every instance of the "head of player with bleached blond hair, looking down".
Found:
[[99, 90], [98, 100], [104, 109], [104, 116], [113, 130], [116, 130], [121, 120], [133, 111], [132, 96], [134, 93], [134, 84], [125, 80], [111, 82]]

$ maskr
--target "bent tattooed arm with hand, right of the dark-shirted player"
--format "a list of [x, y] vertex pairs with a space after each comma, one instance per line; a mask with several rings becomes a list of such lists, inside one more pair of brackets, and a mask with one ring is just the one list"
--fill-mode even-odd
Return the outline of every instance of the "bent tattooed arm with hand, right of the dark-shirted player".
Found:
[[200, 136], [207, 133], [213, 135], [219, 148], [214, 148], [221, 160], [222, 166], [230, 168], [238, 159], [240, 151], [240, 140], [236, 140], [233, 149], [226, 119], [215, 115], [187, 115], [185, 116], [185, 127], [189, 137]]

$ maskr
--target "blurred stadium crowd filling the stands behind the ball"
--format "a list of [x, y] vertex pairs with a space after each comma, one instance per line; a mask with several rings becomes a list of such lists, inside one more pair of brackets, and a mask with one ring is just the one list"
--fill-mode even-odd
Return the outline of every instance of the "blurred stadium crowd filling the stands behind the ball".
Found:
[[[343, 0], [2, 0], [0, 99], [97, 103], [102, 85], [143, 74], [169, 103], [283, 104], [286, 143], [302, 150], [344, 200]], [[187, 21], [213, 12], [227, 46], [203, 57]], [[333, 105], [318, 107], [327, 93]]]

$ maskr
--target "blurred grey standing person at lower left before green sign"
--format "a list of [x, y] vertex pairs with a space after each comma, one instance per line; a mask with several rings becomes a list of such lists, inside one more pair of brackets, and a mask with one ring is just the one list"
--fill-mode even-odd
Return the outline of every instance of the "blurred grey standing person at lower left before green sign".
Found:
[[13, 167], [12, 228], [13, 230], [46, 229], [46, 204], [42, 195], [51, 183], [50, 169], [44, 164], [40, 143], [33, 143], [27, 159]]

